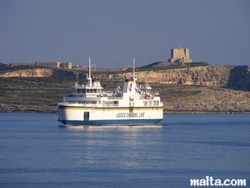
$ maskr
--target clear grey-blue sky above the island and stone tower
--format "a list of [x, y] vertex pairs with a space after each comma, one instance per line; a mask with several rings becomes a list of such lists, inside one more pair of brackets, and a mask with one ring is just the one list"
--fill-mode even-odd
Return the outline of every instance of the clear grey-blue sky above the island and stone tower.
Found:
[[250, 65], [249, 0], [0, 0], [0, 63]]

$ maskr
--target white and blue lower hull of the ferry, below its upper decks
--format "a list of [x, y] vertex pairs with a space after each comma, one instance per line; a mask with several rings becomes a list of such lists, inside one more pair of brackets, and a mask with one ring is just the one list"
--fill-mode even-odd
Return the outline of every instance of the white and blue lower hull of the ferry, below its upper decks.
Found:
[[163, 119], [162, 107], [82, 107], [59, 105], [59, 119], [65, 125], [142, 125]]

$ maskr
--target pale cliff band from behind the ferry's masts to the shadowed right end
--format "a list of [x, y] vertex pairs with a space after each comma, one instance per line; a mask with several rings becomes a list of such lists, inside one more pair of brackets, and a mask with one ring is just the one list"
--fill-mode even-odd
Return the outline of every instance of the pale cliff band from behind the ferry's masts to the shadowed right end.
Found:
[[[138, 82], [228, 87], [250, 91], [250, 66], [200, 66], [178, 69], [148, 70], [136, 73]], [[102, 75], [105, 76], [105, 75]], [[131, 78], [132, 73], [108, 78]]]

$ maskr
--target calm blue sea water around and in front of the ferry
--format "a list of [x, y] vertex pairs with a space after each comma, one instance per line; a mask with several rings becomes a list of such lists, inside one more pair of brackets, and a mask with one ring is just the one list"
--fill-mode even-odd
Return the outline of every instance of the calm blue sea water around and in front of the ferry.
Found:
[[60, 127], [0, 113], [0, 187], [189, 187], [247, 179], [250, 115], [164, 115], [159, 126]]

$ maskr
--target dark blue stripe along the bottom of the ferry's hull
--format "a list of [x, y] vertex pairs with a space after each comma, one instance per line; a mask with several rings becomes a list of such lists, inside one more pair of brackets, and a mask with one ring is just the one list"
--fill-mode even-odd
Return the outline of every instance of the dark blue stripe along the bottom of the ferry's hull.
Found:
[[89, 120], [89, 121], [74, 121], [74, 120], [58, 120], [64, 125], [140, 125], [140, 124], [157, 124], [162, 119], [131, 119], [131, 120]]

